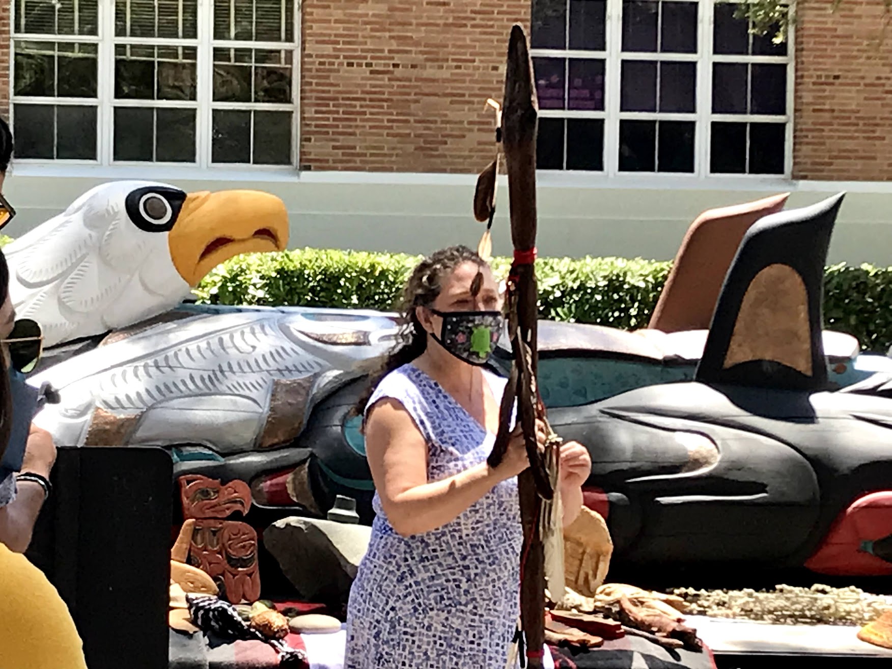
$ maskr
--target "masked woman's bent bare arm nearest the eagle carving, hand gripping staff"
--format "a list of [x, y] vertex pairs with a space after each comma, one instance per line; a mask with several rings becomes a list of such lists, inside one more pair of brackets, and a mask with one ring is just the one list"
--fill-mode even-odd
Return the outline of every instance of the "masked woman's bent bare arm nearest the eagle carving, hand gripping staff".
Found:
[[499, 467], [483, 462], [429, 483], [427, 443], [406, 409], [392, 399], [379, 401], [368, 413], [366, 457], [384, 513], [402, 536], [442, 527], [496, 483], [529, 466], [522, 439], [512, 438]]

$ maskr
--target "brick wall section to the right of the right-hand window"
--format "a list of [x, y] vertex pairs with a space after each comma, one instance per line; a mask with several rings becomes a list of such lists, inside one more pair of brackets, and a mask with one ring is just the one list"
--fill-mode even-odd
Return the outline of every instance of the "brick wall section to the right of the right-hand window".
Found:
[[892, 179], [892, 26], [882, 0], [799, 4], [793, 176]]

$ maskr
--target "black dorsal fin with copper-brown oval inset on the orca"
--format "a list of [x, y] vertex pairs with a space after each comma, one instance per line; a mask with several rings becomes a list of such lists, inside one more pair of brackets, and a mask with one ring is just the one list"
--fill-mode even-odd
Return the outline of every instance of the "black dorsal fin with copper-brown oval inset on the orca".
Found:
[[749, 229], [715, 305], [697, 381], [808, 391], [828, 387], [824, 264], [844, 195], [771, 214]]

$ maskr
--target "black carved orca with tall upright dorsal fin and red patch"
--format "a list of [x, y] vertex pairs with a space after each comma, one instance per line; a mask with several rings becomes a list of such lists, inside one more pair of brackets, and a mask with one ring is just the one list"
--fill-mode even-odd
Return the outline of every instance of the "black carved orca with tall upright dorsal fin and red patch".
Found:
[[862, 547], [892, 534], [892, 401], [828, 390], [823, 267], [842, 200], [747, 232], [693, 382], [549, 412], [590, 449], [615, 559], [892, 574]]

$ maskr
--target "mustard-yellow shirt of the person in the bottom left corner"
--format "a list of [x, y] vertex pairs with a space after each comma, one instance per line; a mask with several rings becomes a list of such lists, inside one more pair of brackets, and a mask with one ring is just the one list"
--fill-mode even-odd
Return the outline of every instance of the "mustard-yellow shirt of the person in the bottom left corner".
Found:
[[87, 669], [65, 602], [28, 558], [0, 544], [0, 667]]

